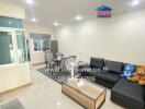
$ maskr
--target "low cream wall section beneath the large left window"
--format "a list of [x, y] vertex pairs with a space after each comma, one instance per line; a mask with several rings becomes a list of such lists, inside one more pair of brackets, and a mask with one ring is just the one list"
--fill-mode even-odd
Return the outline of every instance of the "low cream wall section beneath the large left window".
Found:
[[31, 83], [30, 64], [0, 66], [0, 94]]

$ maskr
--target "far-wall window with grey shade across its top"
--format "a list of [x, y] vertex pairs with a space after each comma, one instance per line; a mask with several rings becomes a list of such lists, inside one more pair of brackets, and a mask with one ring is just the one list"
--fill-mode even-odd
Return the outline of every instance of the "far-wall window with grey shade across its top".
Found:
[[49, 35], [33, 33], [31, 38], [33, 39], [34, 51], [45, 51], [49, 48]]

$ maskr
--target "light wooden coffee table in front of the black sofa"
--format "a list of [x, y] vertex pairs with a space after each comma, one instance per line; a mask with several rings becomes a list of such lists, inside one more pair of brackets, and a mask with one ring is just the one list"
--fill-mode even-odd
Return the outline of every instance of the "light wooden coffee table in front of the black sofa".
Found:
[[105, 101], [107, 89], [87, 80], [72, 78], [62, 86], [62, 93], [86, 109], [99, 109]]

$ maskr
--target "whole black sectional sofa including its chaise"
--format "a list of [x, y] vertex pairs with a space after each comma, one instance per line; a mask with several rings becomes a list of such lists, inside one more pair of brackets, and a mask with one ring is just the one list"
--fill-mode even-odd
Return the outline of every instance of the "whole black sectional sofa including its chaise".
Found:
[[[145, 87], [122, 78], [126, 63], [91, 58], [90, 65], [80, 65], [81, 76], [92, 76], [97, 84], [111, 89], [111, 100], [127, 109], [145, 109]], [[89, 70], [88, 70], [89, 69]]]

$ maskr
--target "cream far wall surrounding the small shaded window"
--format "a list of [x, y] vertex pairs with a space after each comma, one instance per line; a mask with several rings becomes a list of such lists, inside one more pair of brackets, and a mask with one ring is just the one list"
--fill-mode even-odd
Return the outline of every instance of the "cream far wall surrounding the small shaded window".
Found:
[[31, 62], [32, 64], [45, 62], [44, 51], [34, 51], [33, 40], [30, 38], [30, 33], [49, 34], [51, 39], [55, 39], [55, 32], [53, 28], [36, 26], [32, 24], [25, 25], [26, 37], [30, 39], [30, 50], [31, 50]]

